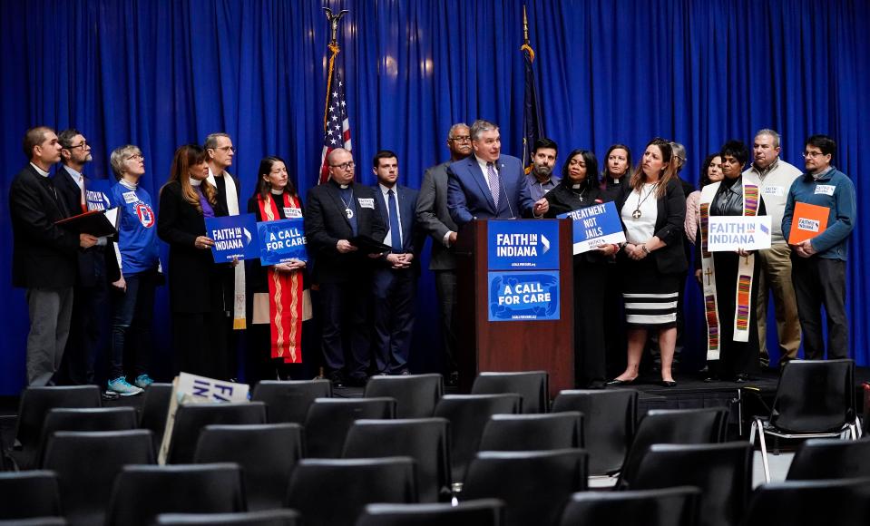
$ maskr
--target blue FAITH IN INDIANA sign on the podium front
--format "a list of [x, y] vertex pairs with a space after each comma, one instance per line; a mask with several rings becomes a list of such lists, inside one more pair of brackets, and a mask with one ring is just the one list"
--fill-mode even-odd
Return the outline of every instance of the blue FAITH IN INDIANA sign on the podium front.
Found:
[[559, 268], [559, 221], [488, 221], [489, 269]]

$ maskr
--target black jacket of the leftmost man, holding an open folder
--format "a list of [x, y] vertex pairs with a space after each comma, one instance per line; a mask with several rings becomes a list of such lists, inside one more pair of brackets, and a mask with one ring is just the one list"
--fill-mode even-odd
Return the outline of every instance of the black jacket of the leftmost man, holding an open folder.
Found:
[[75, 283], [79, 236], [54, 224], [68, 216], [55, 192], [52, 180], [29, 163], [12, 181], [13, 287], [63, 288]]

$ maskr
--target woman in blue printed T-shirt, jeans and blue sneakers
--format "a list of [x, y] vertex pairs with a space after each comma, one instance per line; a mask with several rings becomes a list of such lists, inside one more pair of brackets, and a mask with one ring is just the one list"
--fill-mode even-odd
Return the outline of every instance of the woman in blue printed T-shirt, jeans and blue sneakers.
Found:
[[[112, 170], [118, 183], [109, 191], [112, 207], [118, 209], [118, 242], [115, 254], [121, 278], [112, 283], [112, 356], [109, 391], [122, 396], [138, 395], [151, 385], [151, 326], [154, 289], [161, 281], [157, 217], [151, 195], [139, 185], [145, 173], [142, 151], [128, 144], [112, 151]], [[134, 378], [132, 384], [124, 375]]]

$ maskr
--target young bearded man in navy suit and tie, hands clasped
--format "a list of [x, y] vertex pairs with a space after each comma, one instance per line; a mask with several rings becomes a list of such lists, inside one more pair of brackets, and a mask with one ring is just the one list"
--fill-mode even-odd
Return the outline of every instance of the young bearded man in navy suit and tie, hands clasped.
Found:
[[375, 374], [408, 375], [420, 275], [417, 256], [425, 240], [415, 218], [417, 190], [396, 184], [399, 164], [393, 151], [378, 151], [372, 161], [372, 171], [377, 177], [377, 184], [372, 188], [386, 228], [384, 244], [392, 247], [379, 258], [373, 277]]

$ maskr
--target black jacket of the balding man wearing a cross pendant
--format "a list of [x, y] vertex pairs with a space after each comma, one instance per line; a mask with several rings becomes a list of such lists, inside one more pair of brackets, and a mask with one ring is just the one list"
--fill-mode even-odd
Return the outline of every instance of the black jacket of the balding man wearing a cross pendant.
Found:
[[[352, 207], [357, 217], [357, 234], [376, 240], [384, 239], [386, 229], [380, 219], [380, 204], [371, 187], [353, 184]], [[358, 251], [341, 254], [336, 248], [340, 239], [353, 238], [350, 221], [345, 214], [345, 205], [338, 193], [338, 185], [332, 181], [308, 190], [308, 206], [305, 210], [305, 236], [308, 239], [308, 255], [314, 259], [314, 279], [318, 283], [340, 283], [355, 278], [359, 273], [371, 270], [371, 258]], [[359, 200], [371, 200], [372, 208], [363, 207]]]

